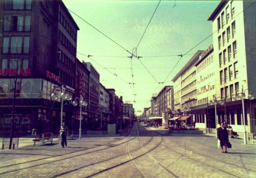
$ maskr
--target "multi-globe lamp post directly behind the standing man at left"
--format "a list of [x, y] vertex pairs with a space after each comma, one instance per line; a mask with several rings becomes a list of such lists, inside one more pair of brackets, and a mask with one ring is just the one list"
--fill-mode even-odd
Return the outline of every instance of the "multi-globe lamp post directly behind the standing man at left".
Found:
[[[70, 101], [72, 99], [72, 95], [68, 95], [67, 93], [65, 93], [65, 88], [64, 86], [62, 85], [61, 88], [58, 87], [56, 89], [54, 89], [54, 93], [52, 93], [51, 97], [52, 99], [54, 100], [57, 100], [58, 99], [58, 95], [56, 93], [56, 91], [60, 91], [61, 90], [61, 93], [60, 93], [60, 98], [61, 98], [61, 110], [60, 110], [60, 128], [62, 127], [62, 120], [63, 120], [63, 101]], [[61, 144], [61, 136], [60, 136], [60, 144]]]

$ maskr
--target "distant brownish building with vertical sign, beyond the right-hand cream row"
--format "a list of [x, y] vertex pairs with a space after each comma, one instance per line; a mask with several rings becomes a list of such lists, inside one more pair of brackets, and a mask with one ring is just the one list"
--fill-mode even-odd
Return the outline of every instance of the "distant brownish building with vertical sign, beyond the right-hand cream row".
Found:
[[[157, 116], [162, 116], [163, 112], [168, 112], [168, 109], [174, 108], [174, 103], [172, 102], [173, 98], [173, 86], [164, 86], [158, 95], [156, 96], [157, 102]], [[168, 101], [168, 95], [170, 102]], [[168, 107], [168, 105], [170, 107]]]

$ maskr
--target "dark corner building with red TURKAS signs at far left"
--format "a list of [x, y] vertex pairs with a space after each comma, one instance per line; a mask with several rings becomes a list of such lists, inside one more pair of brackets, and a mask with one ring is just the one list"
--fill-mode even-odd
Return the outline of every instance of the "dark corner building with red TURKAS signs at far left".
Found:
[[[2, 0], [0, 17], [1, 129], [10, 128], [15, 102], [17, 127], [58, 132], [60, 102], [52, 102], [51, 94], [62, 85], [75, 92], [76, 22], [62, 0]], [[72, 128], [67, 105], [63, 120]]]

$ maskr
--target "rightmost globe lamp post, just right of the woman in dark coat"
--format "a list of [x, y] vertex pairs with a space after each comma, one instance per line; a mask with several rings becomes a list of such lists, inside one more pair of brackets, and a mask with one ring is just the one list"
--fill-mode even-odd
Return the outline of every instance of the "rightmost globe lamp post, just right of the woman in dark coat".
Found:
[[244, 122], [244, 144], [247, 144], [247, 139], [246, 139], [246, 128], [245, 128], [245, 116], [244, 116], [244, 99], [245, 99], [245, 91], [248, 91], [248, 99], [249, 100], [253, 100], [254, 99], [254, 95], [252, 93], [249, 94], [249, 90], [245, 89], [244, 90], [244, 86], [242, 85], [242, 92], [233, 95], [233, 99], [242, 99], [242, 109], [243, 109], [243, 122]]

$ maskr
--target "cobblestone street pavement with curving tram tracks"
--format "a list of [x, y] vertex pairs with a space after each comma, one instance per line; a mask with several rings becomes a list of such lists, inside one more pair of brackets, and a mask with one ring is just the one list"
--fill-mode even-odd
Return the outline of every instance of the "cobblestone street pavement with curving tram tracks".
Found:
[[214, 134], [168, 134], [135, 123], [126, 136], [83, 137], [68, 140], [65, 148], [56, 139], [53, 145], [0, 150], [0, 177], [255, 178], [256, 145], [230, 142], [225, 154]]

